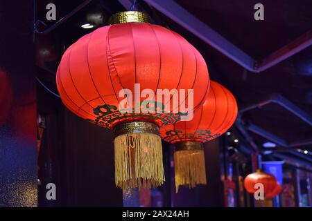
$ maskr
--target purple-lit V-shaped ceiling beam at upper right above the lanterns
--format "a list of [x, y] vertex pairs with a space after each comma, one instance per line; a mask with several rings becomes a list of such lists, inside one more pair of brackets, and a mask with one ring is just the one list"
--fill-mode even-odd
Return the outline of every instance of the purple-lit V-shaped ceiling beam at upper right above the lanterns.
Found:
[[[223, 55], [232, 59], [237, 64], [249, 70], [252, 73], [261, 73], [268, 68], [279, 64], [279, 62], [288, 59], [297, 52], [304, 50], [312, 45], [312, 30], [306, 32], [306, 34], [298, 37], [291, 43], [280, 48], [276, 52], [273, 52], [268, 57], [261, 59], [260, 61], [254, 60], [250, 55], [243, 52], [240, 48], [232, 44], [230, 41], [225, 39], [203, 23], [196, 17], [194, 17], [190, 12], [182, 8], [178, 3], [173, 0], [144, 0], [150, 6], [153, 6], [159, 12], [162, 12], [166, 17], [172, 19], [180, 26], [192, 32], [193, 35], [196, 35], [198, 38], [205, 41], [209, 46], [215, 48]], [[119, 2], [126, 8], [130, 6], [132, 1], [130, 0], [119, 0]]]

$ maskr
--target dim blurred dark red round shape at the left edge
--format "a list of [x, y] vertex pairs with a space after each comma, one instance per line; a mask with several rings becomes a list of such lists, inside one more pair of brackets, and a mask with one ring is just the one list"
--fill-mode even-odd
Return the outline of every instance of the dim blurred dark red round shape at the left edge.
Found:
[[12, 106], [12, 87], [6, 71], [0, 67], [0, 126], [10, 114]]

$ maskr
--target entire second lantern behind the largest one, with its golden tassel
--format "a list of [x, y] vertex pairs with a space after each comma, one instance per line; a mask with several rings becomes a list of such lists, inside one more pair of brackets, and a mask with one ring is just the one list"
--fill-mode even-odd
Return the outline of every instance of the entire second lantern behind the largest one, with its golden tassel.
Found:
[[232, 126], [237, 104], [232, 93], [211, 81], [204, 104], [194, 112], [191, 121], [177, 122], [160, 128], [166, 142], [175, 144], [175, 185], [190, 188], [206, 184], [205, 156], [202, 143], [222, 135]]

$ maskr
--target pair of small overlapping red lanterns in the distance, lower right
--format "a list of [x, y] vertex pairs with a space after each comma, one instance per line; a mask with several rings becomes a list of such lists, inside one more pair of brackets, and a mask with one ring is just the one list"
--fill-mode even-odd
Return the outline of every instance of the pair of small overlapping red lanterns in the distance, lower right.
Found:
[[257, 170], [255, 173], [250, 173], [245, 177], [244, 186], [248, 193], [254, 194], [258, 189], [255, 188], [256, 184], [263, 185], [263, 193], [266, 200], [270, 200], [279, 195], [283, 190], [282, 186], [277, 182], [274, 175], [264, 173]]

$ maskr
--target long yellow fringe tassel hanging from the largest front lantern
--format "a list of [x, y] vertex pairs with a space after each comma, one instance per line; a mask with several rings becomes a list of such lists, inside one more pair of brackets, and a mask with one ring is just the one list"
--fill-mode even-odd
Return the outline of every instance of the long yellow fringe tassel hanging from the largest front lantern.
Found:
[[115, 146], [115, 184], [122, 189], [157, 187], [164, 183], [162, 140], [152, 133], [119, 135]]

